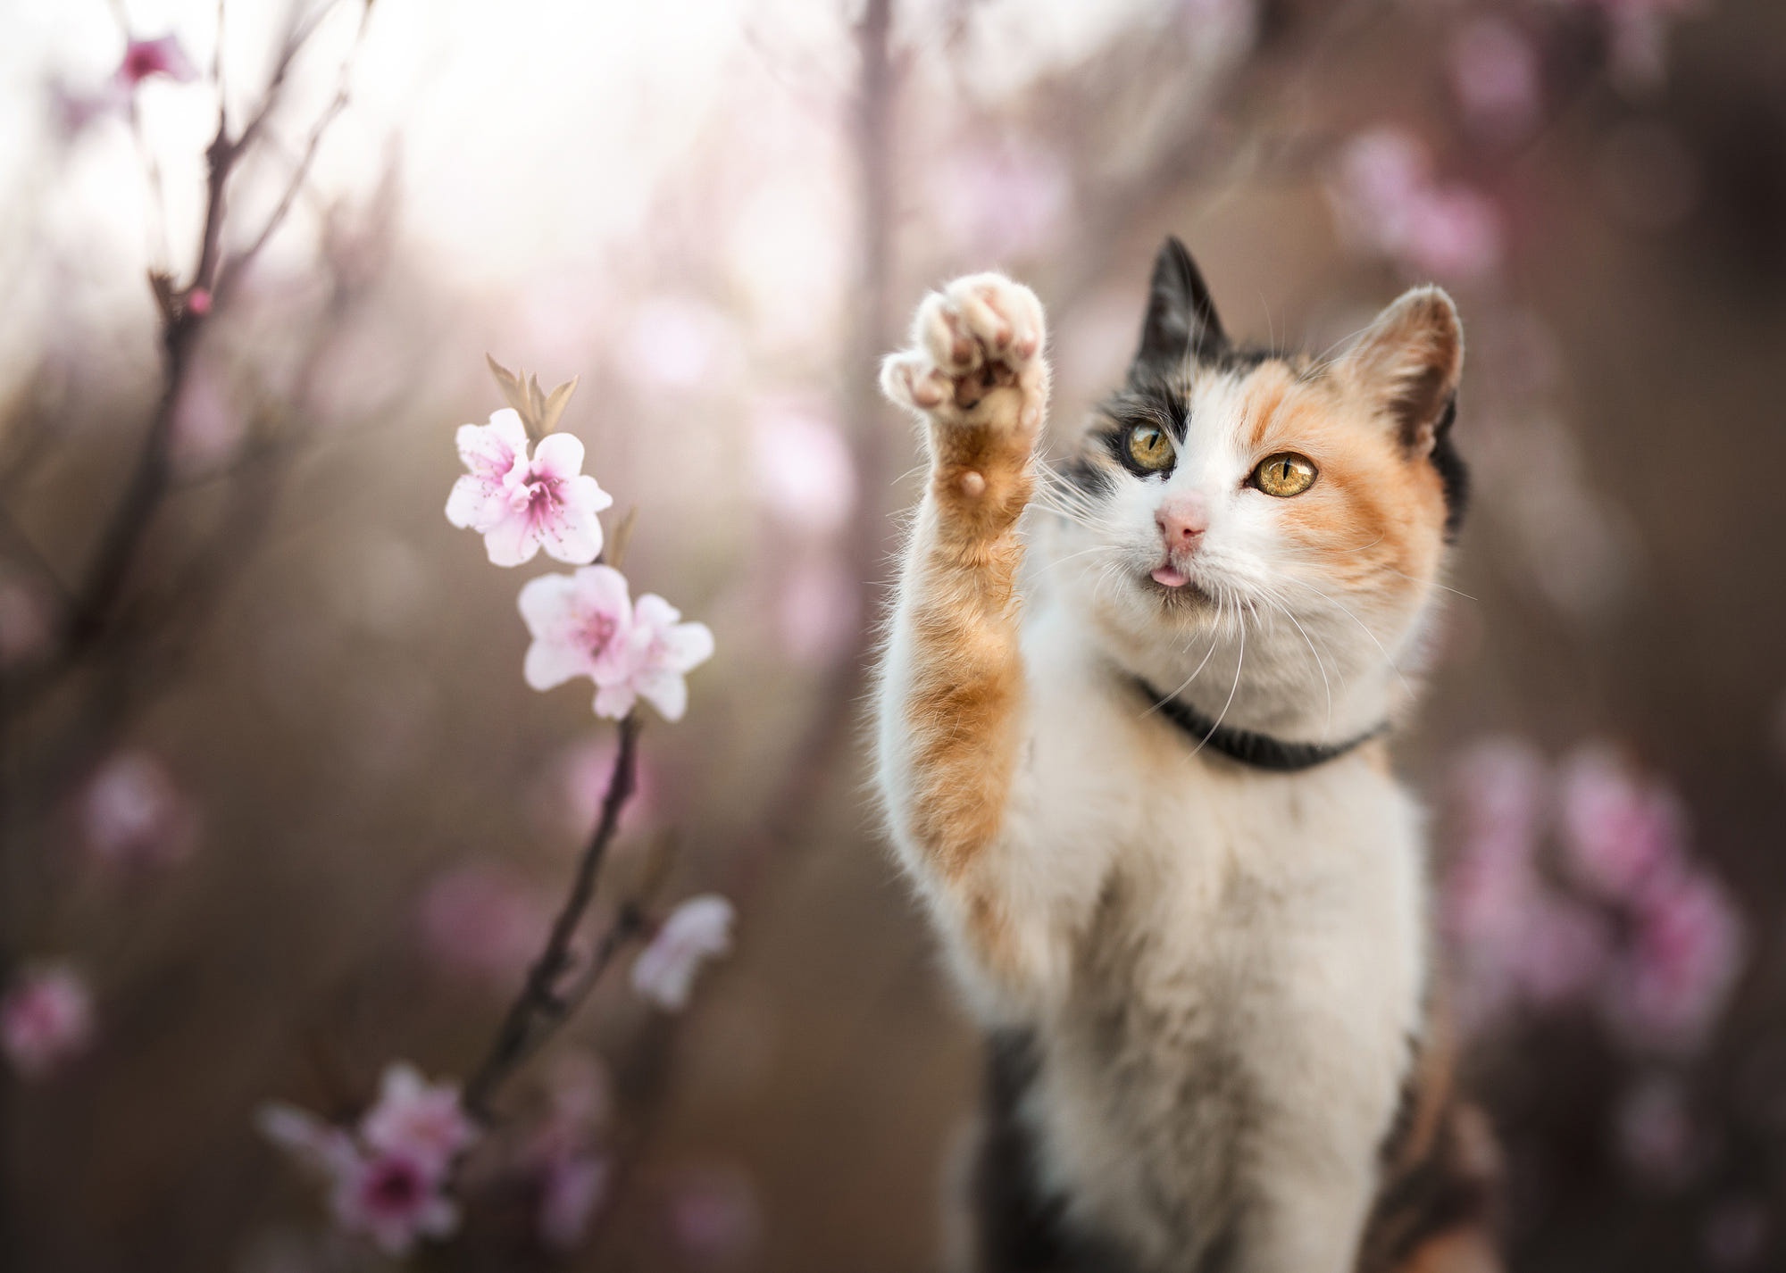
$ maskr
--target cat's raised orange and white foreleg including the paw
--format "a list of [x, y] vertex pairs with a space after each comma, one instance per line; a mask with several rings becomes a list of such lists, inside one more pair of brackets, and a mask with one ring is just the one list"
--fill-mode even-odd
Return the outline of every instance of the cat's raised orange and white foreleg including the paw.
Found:
[[1025, 730], [1018, 518], [1048, 405], [1034, 293], [957, 279], [913, 320], [880, 386], [922, 421], [929, 478], [882, 662], [879, 768], [893, 837], [979, 971], [1038, 957], [1013, 878], [1013, 786]]

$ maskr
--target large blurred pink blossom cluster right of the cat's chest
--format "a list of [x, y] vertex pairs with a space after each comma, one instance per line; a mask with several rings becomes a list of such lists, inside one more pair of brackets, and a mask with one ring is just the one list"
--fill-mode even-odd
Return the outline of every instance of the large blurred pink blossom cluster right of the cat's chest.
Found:
[[1443, 902], [1472, 1025], [1591, 1005], [1643, 1053], [1704, 1041], [1741, 968], [1743, 927], [1693, 859], [1673, 791], [1604, 746], [1547, 766], [1497, 741], [1461, 762], [1457, 803]]

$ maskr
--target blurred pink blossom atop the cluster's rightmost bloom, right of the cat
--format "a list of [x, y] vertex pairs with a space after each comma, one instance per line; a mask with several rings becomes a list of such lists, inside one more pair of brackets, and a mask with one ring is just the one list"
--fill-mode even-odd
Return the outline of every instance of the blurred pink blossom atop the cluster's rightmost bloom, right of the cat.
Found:
[[1631, 898], [1652, 871], [1684, 861], [1681, 802], [1641, 784], [1609, 748], [1577, 750], [1563, 764], [1561, 787], [1565, 859], [1600, 896]]

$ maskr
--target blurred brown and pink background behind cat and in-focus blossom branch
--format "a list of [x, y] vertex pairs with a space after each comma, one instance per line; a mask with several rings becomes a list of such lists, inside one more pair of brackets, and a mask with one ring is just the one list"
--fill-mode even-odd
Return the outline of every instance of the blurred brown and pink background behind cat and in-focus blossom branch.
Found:
[[679, 1014], [620, 955], [407, 1259], [938, 1268], [979, 1041], [866, 800], [916, 462], [873, 366], [927, 287], [1006, 268], [1070, 436], [1172, 232], [1259, 341], [1427, 279], [1465, 314], [1477, 495], [1398, 757], [1513, 1268], [1786, 1268], [1786, 9], [0, 23], [0, 1264], [404, 1259], [257, 1118], [473, 1069], [616, 746], [522, 680], [552, 564], [441, 516], [489, 352], [580, 377], [634, 591], [718, 643], [647, 718], [579, 950], [627, 880], [738, 918]]

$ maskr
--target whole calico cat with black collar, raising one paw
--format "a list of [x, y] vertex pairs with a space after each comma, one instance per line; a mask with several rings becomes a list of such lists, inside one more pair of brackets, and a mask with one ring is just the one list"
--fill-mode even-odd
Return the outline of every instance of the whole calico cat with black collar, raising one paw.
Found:
[[957, 279], [888, 357], [931, 466], [877, 778], [991, 1036], [982, 1269], [1500, 1268], [1386, 745], [1463, 509], [1461, 366], [1438, 287], [1332, 361], [1234, 345], [1177, 239], [1057, 470], [1027, 287]]

